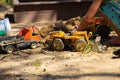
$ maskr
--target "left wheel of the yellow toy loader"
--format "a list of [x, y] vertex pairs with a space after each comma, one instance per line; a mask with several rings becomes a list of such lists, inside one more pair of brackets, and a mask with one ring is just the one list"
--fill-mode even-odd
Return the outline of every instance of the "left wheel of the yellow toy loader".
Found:
[[64, 49], [64, 43], [61, 39], [55, 39], [53, 41], [53, 48], [57, 51], [61, 51]]

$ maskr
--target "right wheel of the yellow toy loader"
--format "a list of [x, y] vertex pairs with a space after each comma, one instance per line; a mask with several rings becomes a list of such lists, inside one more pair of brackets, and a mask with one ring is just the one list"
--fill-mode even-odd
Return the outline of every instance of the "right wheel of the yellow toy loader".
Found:
[[84, 40], [77, 40], [76, 42], [75, 42], [75, 50], [76, 51], [84, 51], [85, 50], [85, 48], [86, 48], [86, 42], [84, 41]]

